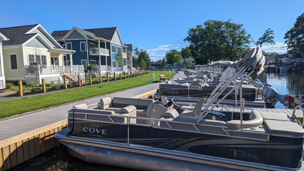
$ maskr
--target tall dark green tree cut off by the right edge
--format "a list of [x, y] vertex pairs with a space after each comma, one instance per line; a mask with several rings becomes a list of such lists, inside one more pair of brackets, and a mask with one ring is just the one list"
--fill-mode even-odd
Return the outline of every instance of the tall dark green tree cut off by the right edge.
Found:
[[299, 16], [294, 26], [285, 33], [284, 39], [289, 49], [304, 53], [304, 13]]

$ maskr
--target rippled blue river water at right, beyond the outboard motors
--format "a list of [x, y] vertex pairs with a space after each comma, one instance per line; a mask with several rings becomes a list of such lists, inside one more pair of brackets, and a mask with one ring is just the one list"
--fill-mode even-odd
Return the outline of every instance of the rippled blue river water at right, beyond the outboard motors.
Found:
[[[289, 94], [300, 103], [303, 103], [304, 97], [304, 72], [266, 72], [257, 76], [263, 83], [268, 83], [274, 87], [281, 95]], [[297, 101], [296, 101], [297, 102]], [[281, 103], [277, 103], [275, 108], [286, 108]]]

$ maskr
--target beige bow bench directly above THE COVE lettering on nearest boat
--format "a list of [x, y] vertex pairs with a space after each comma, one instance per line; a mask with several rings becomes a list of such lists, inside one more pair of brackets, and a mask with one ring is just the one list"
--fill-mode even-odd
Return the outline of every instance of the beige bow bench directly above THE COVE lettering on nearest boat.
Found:
[[[73, 114], [74, 112], [74, 114]], [[99, 115], [103, 114], [103, 115]], [[105, 116], [108, 115], [108, 116]], [[121, 116], [132, 116], [136, 117], [136, 108], [135, 106], [128, 106], [124, 107], [119, 111], [119, 113], [115, 113], [111, 110], [98, 110], [98, 109], [88, 109], [87, 105], [85, 103], [81, 103], [78, 105], [73, 106], [73, 108], [68, 113], [69, 117], [74, 117], [75, 119], [81, 118], [81, 119], [92, 119], [92, 120], [102, 120], [107, 122], [114, 122], [117, 123], [127, 123], [127, 117], [121, 117]], [[111, 120], [111, 119], [112, 120]], [[130, 119], [131, 123], [136, 123], [135, 118]]]

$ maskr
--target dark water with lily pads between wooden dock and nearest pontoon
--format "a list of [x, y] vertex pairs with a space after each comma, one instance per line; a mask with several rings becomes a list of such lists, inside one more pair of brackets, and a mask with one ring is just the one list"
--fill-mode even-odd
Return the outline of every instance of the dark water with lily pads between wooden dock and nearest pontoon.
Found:
[[50, 149], [7, 171], [135, 171], [121, 167], [87, 163], [71, 157], [64, 145]]

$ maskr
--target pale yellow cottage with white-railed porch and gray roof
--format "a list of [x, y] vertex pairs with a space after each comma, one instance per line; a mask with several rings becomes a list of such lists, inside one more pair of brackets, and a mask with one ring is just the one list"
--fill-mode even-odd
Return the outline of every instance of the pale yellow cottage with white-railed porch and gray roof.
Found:
[[62, 82], [64, 75], [84, 79], [83, 65], [64, 66], [63, 55], [72, 54], [40, 25], [0, 28], [9, 40], [3, 41], [5, 80]]

